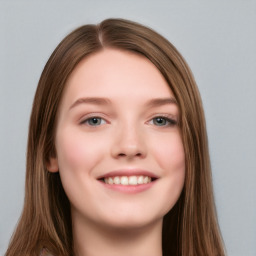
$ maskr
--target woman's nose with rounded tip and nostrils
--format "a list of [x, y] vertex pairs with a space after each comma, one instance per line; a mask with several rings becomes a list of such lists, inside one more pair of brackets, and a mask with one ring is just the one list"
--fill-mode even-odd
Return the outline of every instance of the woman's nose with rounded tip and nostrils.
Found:
[[112, 157], [119, 159], [145, 158], [147, 149], [143, 132], [136, 127], [119, 129], [113, 136]]

